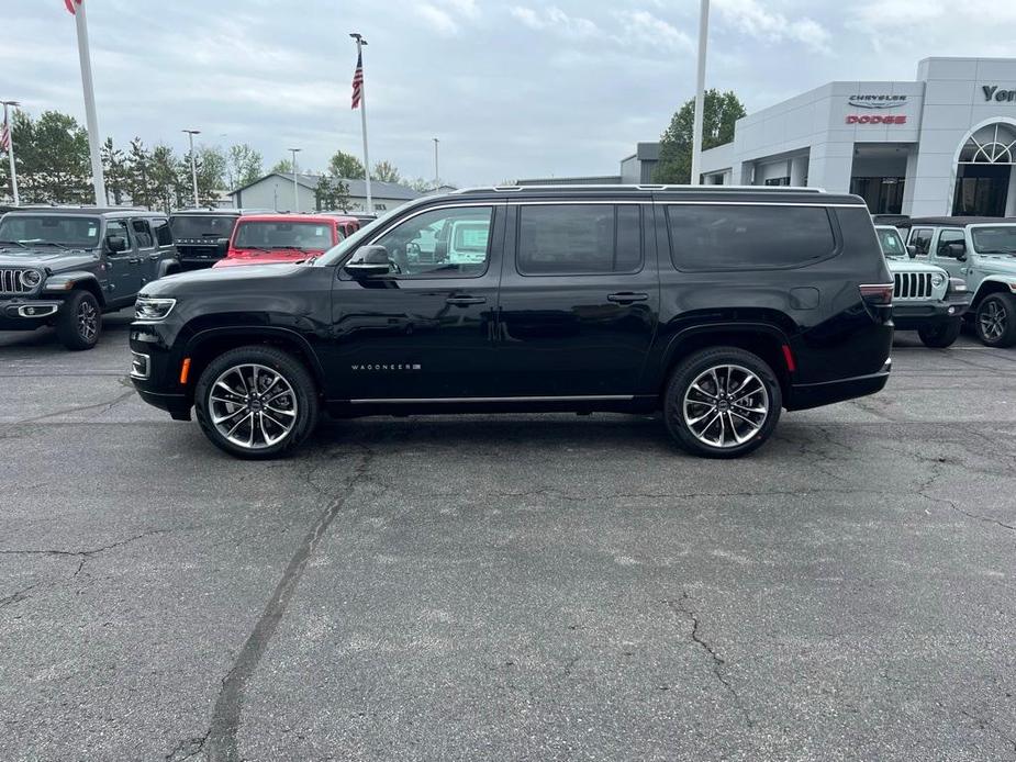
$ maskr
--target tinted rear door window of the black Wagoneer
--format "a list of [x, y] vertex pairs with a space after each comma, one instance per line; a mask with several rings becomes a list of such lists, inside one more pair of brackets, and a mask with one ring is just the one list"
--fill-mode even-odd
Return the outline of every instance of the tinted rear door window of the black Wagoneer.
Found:
[[634, 204], [518, 208], [517, 269], [524, 276], [637, 272], [641, 212]]

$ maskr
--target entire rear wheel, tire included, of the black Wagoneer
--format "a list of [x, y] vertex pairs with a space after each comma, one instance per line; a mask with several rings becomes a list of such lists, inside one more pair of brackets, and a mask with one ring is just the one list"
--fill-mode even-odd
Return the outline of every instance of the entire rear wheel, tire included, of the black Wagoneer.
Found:
[[[729, 394], [730, 385], [739, 392], [744, 384], [750, 394], [747, 400], [723, 396]], [[747, 404], [735, 404], [734, 400]], [[725, 406], [726, 412], [717, 411], [717, 405]], [[782, 405], [780, 382], [760, 357], [737, 347], [713, 347], [694, 352], [673, 369], [663, 399], [663, 417], [670, 435], [688, 452], [702, 458], [738, 458], [769, 439]]]

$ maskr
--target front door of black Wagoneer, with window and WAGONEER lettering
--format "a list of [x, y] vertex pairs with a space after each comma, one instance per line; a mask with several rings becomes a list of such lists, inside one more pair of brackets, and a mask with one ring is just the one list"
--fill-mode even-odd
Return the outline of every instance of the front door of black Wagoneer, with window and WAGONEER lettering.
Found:
[[[503, 216], [495, 204], [425, 211], [369, 242], [400, 272], [353, 279], [338, 269], [330, 399], [489, 395]], [[435, 256], [445, 228], [453, 246]]]

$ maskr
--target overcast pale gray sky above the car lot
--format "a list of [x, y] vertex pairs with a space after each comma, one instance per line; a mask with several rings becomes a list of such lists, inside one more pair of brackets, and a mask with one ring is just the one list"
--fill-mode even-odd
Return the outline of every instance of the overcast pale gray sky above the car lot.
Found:
[[[249, 143], [266, 167], [361, 155], [351, 31], [365, 48], [371, 161], [492, 183], [603, 175], [693, 94], [697, 0], [86, 0], [99, 126], [183, 150]], [[63, 0], [2, 0], [0, 98], [83, 123]], [[912, 79], [930, 55], [1011, 56], [1016, 3], [714, 0], [707, 87], [751, 112], [830, 80]], [[225, 136], [223, 136], [223, 134]]]

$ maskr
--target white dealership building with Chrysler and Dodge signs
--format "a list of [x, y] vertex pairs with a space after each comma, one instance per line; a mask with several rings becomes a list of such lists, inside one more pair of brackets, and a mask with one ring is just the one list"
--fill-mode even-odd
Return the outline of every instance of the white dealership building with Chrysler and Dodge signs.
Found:
[[872, 213], [1016, 215], [1016, 59], [925, 58], [917, 78], [829, 82], [737, 121], [702, 181], [813, 186]]

